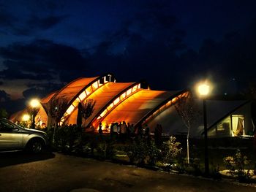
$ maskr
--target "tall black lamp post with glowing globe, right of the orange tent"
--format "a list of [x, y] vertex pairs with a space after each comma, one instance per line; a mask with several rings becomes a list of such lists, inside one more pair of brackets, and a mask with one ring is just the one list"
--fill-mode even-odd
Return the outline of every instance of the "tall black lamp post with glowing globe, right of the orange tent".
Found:
[[209, 175], [209, 160], [208, 160], [208, 134], [207, 134], [207, 113], [206, 113], [206, 96], [210, 91], [210, 86], [201, 84], [198, 86], [198, 92], [203, 98], [203, 127], [204, 127], [204, 143], [205, 143], [205, 174]]

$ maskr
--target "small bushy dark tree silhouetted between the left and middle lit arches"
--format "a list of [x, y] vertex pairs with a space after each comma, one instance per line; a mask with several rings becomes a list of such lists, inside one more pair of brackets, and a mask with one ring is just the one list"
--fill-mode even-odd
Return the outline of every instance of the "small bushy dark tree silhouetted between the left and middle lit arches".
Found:
[[86, 122], [86, 119], [88, 119], [91, 116], [91, 114], [94, 112], [95, 104], [96, 104], [96, 101], [94, 101], [94, 99], [86, 99], [85, 102], [78, 104], [78, 119], [77, 119], [78, 127], [82, 126], [83, 119]]

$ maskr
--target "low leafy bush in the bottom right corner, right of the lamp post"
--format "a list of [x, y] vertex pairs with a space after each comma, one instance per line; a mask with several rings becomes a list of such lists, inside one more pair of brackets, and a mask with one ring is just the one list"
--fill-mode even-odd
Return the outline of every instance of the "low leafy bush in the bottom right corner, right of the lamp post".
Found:
[[227, 156], [224, 158], [224, 164], [229, 170], [229, 173], [238, 178], [239, 182], [247, 183], [252, 179], [252, 174], [249, 173], [249, 169], [245, 171], [245, 166], [249, 164], [246, 156], [241, 154], [240, 150], [236, 151], [234, 156]]

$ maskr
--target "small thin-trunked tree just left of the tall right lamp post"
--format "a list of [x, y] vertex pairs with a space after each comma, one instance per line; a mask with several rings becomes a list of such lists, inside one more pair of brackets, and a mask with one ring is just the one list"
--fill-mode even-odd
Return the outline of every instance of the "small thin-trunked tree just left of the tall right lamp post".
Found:
[[188, 97], [178, 99], [174, 107], [187, 127], [187, 164], [189, 164], [189, 131], [192, 123], [194, 123], [197, 115], [199, 115], [198, 106], [190, 93]]

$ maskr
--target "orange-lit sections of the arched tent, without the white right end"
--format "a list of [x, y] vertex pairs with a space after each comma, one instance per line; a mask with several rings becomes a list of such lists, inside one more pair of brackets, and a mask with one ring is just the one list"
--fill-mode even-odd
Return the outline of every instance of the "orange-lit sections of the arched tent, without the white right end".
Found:
[[[97, 128], [113, 122], [134, 124], [149, 123], [166, 107], [170, 107], [187, 91], [151, 91], [146, 82], [116, 82], [113, 74], [99, 77], [78, 78], [64, 88], [41, 99], [41, 106], [36, 117], [36, 123], [47, 124], [48, 111], [45, 104], [54, 99], [65, 99], [68, 107], [62, 115], [60, 124], [75, 124], [78, 116], [78, 104], [87, 99], [96, 101], [94, 112], [86, 120], [84, 126]], [[11, 120], [21, 120], [22, 112], [12, 115]]]

